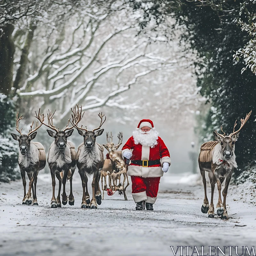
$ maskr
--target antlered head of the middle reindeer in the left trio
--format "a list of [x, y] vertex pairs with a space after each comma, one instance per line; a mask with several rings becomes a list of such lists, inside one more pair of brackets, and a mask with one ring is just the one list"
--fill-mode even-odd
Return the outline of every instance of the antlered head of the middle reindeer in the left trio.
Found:
[[73, 121], [75, 124], [72, 127], [68, 127], [68, 125], [70, 123], [70, 119], [69, 119], [68, 124], [64, 130], [59, 130], [59, 128], [56, 129], [56, 127], [53, 125], [53, 115], [55, 114], [55, 111], [54, 111], [54, 113], [52, 113], [52, 111], [50, 112], [50, 110], [48, 110], [48, 114], [47, 114], [48, 125], [45, 124], [44, 120], [42, 120], [40, 117], [40, 108], [39, 108], [38, 114], [36, 113], [36, 118], [41, 122], [41, 125], [44, 124], [45, 126], [51, 128], [53, 131], [55, 131], [55, 132], [53, 132], [51, 130], [46, 130], [48, 132], [48, 134], [52, 138], [55, 139], [54, 143], [59, 148], [59, 150], [63, 151], [67, 147], [68, 137], [71, 136], [74, 131], [74, 129], [72, 129], [72, 128], [75, 126], [75, 124], [78, 124], [82, 118], [82, 116], [81, 116], [82, 109], [79, 112], [78, 105], [76, 105], [75, 109], [71, 108], [71, 111], [73, 113], [72, 117], [73, 117]]

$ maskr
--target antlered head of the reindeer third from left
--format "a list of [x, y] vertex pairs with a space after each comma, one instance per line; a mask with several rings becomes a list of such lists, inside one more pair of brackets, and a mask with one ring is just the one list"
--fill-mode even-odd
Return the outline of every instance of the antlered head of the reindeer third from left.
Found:
[[[81, 107], [82, 109], [82, 107]], [[104, 124], [104, 122], [106, 121], [106, 116], [102, 115], [102, 112], [98, 114], [98, 116], [100, 117], [100, 126], [98, 128], [93, 129], [92, 131], [88, 131], [85, 128], [83, 128], [83, 125], [81, 125], [81, 127], [76, 126], [77, 132], [84, 137], [84, 146], [87, 150], [91, 150], [95, 143], [96, 143], [96, 137], [100, 136], [102, 134], [102, 132], [104, 131], [104, 129], [100, 129], [100, 127], [102, 126], [102, 124]], [[103, 117], [105, 116], [105, 119], [103, 121]], [[74, 121], [72, 121], [72, 124], [74, 124]]]

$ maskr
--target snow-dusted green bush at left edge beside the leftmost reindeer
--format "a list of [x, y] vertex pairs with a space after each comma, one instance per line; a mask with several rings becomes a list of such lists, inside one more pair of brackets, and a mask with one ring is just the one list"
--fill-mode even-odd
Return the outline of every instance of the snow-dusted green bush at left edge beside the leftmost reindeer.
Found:
[[0, 181], [9, 182], [20, 178], [18, 167], [18, 144], [11, 139], [11, 128], [15, 127], [12, 100], [0, 93]]

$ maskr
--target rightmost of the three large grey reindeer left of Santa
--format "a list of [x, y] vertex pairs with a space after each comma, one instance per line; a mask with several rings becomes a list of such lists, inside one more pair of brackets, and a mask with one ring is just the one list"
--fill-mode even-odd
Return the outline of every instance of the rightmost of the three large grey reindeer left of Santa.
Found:
[[[102, 124], [106, 121], [106, 116], [102, 115], [102, 112], [98, 115], [100, 117], [100, 126], [92, 131], [89, 131], [81, 127], [76, 126], [78, 133], [84, 137], [84, 142], [78, 146], [76, 153], [76, 165], [78, 167], [78, 173], [82, 180], [83, 186], [83, 199], [81, 208], [97, 209], [97, 204], [101, 204], [101, 192], [100, 192], [100, 170], [104, 164], [103, 148], [100, 144], [96, 143], [96, 137], [100, 136], [104, 129], [100, 129]], [[105, 120], [103, 121], [103, 117]], [[90, 195], [88, 193], [88, 177], [87, 175], [93, 174], [92, 179], [92, 200], [90, 201]], [[86, 191], [85, 191], [86, 188]]]

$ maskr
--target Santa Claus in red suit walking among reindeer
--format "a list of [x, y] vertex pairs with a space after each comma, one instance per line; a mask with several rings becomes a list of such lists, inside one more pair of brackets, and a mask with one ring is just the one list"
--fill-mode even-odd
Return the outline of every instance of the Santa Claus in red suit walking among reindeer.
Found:
[[160, 178], [171, 165], [169, 151], [158, 134], [153, 122], [143, 119], [122, 148], [123, 158], [131, 159], [127, 174], [132, 179], [136, 210], [143, 210], [145, 200], [146, 209], [153, 211]]

